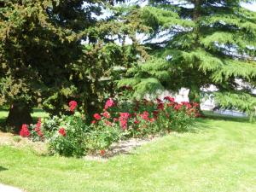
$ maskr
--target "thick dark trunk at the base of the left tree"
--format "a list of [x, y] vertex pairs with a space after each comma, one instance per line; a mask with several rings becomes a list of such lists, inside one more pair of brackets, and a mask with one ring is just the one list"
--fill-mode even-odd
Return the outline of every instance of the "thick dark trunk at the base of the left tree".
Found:
[[7, 125], [14, 126], [15, 133], [20, 131], [22, 124], [32, 124], [32, 109], [23, 102], [15, 102], [9, 108], [9, 115], [6, 119]]

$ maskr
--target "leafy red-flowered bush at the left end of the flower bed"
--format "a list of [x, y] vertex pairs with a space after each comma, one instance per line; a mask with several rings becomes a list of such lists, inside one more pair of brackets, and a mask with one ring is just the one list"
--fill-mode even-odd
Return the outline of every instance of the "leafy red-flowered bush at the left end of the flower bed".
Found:
[[70, 102], [71, 115], [38, 119], [36, 125], [23, 125], [22, 137], [32, 141], [43, 141], [49, 147], [49, 154], [63, 156], [83, 156], [86, 154], [85, 137], [90, 131], [84, 114], [75, 113], [76, 102]]

